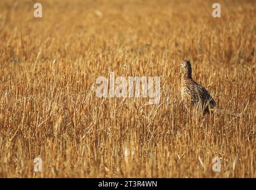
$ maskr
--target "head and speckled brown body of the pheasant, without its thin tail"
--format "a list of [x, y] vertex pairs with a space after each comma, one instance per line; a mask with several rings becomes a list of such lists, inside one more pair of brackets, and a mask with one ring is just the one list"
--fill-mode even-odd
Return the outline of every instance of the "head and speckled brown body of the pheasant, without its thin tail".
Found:
[[192, 107], [198, 107], [201, 112], [210, 113], [216, 106], [216, 102], [204, 87], [193, 80], [191, 62], [186, 59], [180, 66], [182, 68], [181, 94], [186, 109], [189, 111]]

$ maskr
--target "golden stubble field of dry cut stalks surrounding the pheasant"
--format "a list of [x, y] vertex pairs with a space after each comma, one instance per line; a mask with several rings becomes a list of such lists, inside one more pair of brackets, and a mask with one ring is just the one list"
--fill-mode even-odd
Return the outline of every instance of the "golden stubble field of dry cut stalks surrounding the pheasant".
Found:
[[[255, 178], [256, 2], [220, 1], [221, 18], [213, 3], [1, 1], [0, 177]], [[185, 111], [185, 58], [240, 117]], [[95, 80], [110, 72], [160, 76], [160, 103], [99, 99]]]

